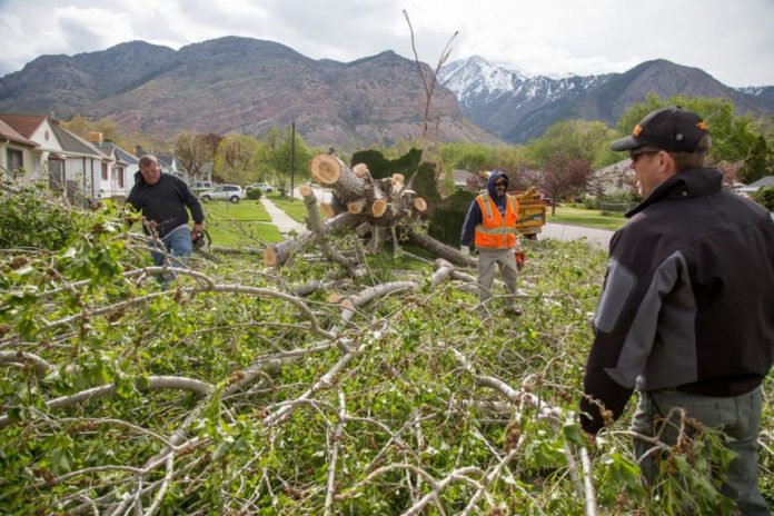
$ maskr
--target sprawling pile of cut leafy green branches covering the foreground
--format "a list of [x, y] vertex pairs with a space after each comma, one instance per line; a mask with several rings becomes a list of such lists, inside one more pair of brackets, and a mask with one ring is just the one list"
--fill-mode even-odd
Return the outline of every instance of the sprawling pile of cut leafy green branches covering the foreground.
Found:
[[[601, 252], [529, 242], [525, 315], [479, 319], [448, 262], [384, 254], [360, 276], [328, 259], [195, 260], [165, 289], [152, 242], [109, 209], [82, 217], [60, 250], [0, 252], [0, 513], [647, 502], [626, 433], [589, 456], [573, 411]], [[324, 258], [314, 242], [302, 252]]]

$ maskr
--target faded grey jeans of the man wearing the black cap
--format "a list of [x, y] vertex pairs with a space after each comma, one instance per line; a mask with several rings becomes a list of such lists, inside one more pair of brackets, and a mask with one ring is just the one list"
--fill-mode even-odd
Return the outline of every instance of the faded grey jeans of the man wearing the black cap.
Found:
[[[658, 437], [667, 445], [676, 444], [679, 415], [674, 414], [667, 425], [658, 419], [669, 415], [673, 408], [685, 409], [685, 415], [698, 419], [707, 427], [721, 428], [727, 437], [727, 447], [737, 457], [731, 463], [727, 482], [721, 493], [736, 500], [743, 515], [770, 515], [771, 512], [757, 487], [757, 438], [761, 427], [761, 387], [741, 396], [720, 398], [681, 393], [676, 389], [639, 393], [639, 404], [632, 421], [632, 430], [649, 437]], [[658, 434], [658, 430], [662, 430]], [[657, 435], [658, 434], [658, 435]], [[658, 464], [653, 455], [645, 454], [653, 445], [634, 439], [634, 455], [643, 476], [655, 484]]]

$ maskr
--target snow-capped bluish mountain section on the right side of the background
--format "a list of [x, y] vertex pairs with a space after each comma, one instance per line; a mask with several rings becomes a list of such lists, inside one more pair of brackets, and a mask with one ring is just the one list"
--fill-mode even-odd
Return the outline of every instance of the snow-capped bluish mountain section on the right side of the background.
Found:
[[470, 120], [505, 141], [522, 142], [540, 136], [558, 120], [601, 120], [614, 127], [621, 115], [647, 93], [722, 97], [738, 113], [774, 113], [774, 87], [734, 89], [698, 68], [664, 59], [643, 62], [624, 73], [529, 77], [508, 64], [480, 57], [453, 61], [439, 81], [455, 92]]

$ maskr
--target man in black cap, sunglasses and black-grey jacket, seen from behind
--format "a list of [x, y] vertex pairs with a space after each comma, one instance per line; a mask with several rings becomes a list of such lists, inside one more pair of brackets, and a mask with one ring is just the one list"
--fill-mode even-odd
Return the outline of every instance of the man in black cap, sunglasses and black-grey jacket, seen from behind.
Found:
[[636, 388], [634, 448], [649, 483], [654, 441], [675, 445], [693, 418], [737, 454], [722, 492], [745, 515], [770, 514], [756, 453], [774, 357], [774, 220], [702, 168], [710, 143], [701, 117], [669, 107], [612, 145], [629, 151], [644, 200], [611, 241], [582, 425], [596, 434]]

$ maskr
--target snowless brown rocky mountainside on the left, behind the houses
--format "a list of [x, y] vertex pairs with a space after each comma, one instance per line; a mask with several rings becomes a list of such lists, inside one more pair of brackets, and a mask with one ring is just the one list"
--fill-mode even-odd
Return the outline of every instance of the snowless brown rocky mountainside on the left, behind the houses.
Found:
[[[394, 52], [316, 61], [236, 37], [178, 51], [132, 42], [46, 56], [0, 79], [0, 111], [110, 117], [161, 140], [181, 129], [260, 133], [295, 120], [310, 145], [391, 145], [420, 135], [424, 101], [416, 63]], [[441, 140], [495, 141], [463, 117], [449, 90], [436, 91], [434, 108]]]

